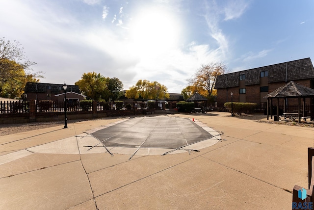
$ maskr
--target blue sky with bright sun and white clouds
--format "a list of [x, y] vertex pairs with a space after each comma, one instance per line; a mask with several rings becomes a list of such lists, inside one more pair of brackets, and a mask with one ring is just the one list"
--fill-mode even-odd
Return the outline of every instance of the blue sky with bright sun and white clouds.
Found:
[[83, 73], [181, 93], [203, 64], [242, 71], [314, 55], [313, 0], [0, 0], [0, 37], [40, 82]]

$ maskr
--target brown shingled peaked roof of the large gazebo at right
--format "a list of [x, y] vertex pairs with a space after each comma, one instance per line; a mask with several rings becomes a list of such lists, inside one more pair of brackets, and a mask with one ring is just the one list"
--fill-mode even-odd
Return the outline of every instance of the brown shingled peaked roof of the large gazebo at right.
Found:
[[273, 92], [267, 94], [264, 98], [304, 98], [314, 97], [314, 89], [302, 86], [290, 81]]

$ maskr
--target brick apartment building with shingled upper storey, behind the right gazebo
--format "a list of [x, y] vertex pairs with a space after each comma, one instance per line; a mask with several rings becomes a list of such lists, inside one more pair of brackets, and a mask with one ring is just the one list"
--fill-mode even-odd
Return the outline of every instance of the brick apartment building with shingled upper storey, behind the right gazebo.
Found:
[[[289, 81], [314, 88], [314, 67], [310, 58], [220, 75], [215, 84], [217, 103], [221, 106], [231, 102], [231, 92], [234, 102], [266, 103], [264, 96]], [[306, 99], [306, 104], [313, 104], [312, 100]], [[297, 100], [288, 99], [287, 103], [297, 104]]]

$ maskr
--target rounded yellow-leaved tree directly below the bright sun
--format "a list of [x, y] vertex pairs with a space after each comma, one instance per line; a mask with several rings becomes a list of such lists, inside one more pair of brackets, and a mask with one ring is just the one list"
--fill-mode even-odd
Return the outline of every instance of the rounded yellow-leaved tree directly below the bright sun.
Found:
[[129, 99], [162, 100], [163, 97], [169, 99], [167, 91], [167, 87], [157, 81], [151, 82], [140, 79], [136, 82], [136, 85], [126, 91], [125, 96]]

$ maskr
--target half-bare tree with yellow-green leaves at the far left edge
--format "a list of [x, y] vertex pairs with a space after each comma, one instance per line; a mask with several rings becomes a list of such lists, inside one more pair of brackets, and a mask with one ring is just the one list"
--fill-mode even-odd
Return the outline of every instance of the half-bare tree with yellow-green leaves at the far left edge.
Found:
[[42, 72], [32, 73], [31, 62], [19, 42], [0, 38], [0, 97], [20, 98], [26, 81], [38, 82]]

